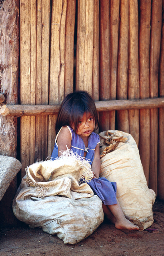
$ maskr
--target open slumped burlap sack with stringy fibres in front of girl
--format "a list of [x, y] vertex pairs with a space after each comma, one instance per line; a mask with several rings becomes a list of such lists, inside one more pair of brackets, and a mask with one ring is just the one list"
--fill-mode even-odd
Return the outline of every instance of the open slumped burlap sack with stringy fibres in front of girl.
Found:
[[87, 183], [78, 183], [84, 176], [92, 178], [91, 166], [74, 154], [32, 164], [13, 200], [15, 216], [64, 243], [80, 242], [104, 220], [102, 201]]

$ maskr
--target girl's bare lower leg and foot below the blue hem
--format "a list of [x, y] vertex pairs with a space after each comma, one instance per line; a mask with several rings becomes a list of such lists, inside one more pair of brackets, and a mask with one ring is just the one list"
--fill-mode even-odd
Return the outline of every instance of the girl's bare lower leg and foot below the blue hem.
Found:
[[[125, 217], [119, 201], [117, 199], [117, 204], [114, 205], [103, 205], [103, 211], [106, 217], [115, 224], [117, 229], [129, 229], [138, 230], [139, 227], [131, 223], [129, 220], [131, 218]], [[128, 220], [129, 219], [129, 220]]]

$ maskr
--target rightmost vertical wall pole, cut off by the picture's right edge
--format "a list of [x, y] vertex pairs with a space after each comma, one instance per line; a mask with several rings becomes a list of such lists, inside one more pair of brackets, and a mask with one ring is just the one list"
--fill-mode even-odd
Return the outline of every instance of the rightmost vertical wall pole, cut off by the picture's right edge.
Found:
[[[164, 0], [162, 4], [162, 36], [160, 52], [160, 72], [159, 72], [159, 94], [164, 97]], [[164, 200], [164, 108], [159, 108], [159, 136], [158, 136], [158, 196]]]

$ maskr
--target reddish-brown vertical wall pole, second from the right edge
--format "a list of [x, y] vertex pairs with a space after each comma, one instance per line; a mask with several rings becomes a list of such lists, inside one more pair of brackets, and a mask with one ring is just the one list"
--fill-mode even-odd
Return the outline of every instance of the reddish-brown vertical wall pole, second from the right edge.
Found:
[[[158, 97], [159, 60], [162, 27], [162, 0], [152, 1], [150, 34], [150, 97]], [[149, 187], [156, 195], [158, 179], [158, 109], [150, 109], [150, 170]]]

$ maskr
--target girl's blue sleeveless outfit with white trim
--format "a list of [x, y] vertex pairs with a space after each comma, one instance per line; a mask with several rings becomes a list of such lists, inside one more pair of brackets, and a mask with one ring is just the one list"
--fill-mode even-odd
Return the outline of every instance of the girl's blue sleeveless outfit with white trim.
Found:
[[[63, 127], [61, 127], [62, 129]], [[99, 135], [92, 132], [90, 137], [88, 138], [88, 147], [86, 148], [83, 142], [83, 139], [76, 134], [70, 126], [67, 126], [71, 134], [71, 149], [75, 153], [77, 152], [78, 155], [84, 156], [84, 152], [86, 152], [86, 159], [92, 165], [94, 155], [95, 155], [95, 148], [98, 143], [100, 143]], [[61, 131], [60, 129], [60, 131]], [[55, 139], [55, 146], [52, 152], [51, 157], [56, 159], [58, 157], [58, 145], [57, 145], [57, 138], [59, 133], [56, 135]], [[106, 178], [98, 178], [92, 179], [91, 181], [87, 182], [88, 185], [92, 188], [94, 194], [96, 194], [105, 205], [113, 205], [117, 204], [116, 199], [116, 182], [110, 182]]]

